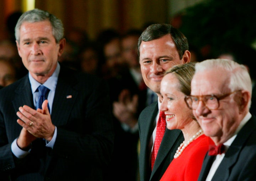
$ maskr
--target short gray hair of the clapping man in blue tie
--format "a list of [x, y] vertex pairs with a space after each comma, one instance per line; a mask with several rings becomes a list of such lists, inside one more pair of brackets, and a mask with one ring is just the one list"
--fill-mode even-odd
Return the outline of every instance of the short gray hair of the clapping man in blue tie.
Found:
[[51, 23], [52, 34], [55, 38], [56, 43], [59, 43], [59, 41], [64, 37], [64, 27], [62, 21], [53, 14], [39, 9], [27, 11], [20, 16], [15, 26], [15, 38], [17, 42], [20, 43], [20, 27], [23, 22], [34, 23], [44, 20], [49, 20], [49, 22]]

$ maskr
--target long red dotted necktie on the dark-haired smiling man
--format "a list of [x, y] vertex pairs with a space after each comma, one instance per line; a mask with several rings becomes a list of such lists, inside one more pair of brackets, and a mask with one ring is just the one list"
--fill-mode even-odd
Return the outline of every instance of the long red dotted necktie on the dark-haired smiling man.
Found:
[[164, 137], [165, 128], [166, 128], [165, 113], [160, 111], [159, 119], [156, 124], [156, 137], [155, 137], [154, 147], [151, 155], [151, 169], [153, 169], [156, 155], [158, 154], [158, 149], [160, 147], [162, 138]]

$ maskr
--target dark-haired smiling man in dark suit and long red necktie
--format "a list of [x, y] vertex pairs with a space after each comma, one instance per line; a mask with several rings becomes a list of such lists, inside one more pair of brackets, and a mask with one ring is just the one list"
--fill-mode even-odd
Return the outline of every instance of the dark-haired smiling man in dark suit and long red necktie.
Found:
[[[158, 95], [158, 101], [147, 106], [138, 120], [140, 181], [158, 181], [174, 158], [180, 143], [184, 141], [180, 130], [168, 130], [162, 125], [165, 118], [158, 123], [162, 98], [160, 83], [165, 71], [174, 65], [190, 62], [191, 54], [187, 38], [170, 24], [151, 24], [140, 35], [138, 48], [144, 82]], [[160, 138], [158, 132], [161, 132]]]

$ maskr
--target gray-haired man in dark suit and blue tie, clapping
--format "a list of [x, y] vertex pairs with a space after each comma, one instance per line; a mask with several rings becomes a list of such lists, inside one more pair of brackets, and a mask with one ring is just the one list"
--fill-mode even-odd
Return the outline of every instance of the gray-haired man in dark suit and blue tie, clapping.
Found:
[[108, 87], [58, 62], [63, 34], [62, 22], [38, 9], [16, 24], [29, 73], [0, 90], [0, 180], [104, 180], [113, 150]]

